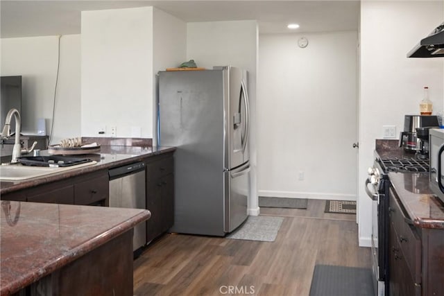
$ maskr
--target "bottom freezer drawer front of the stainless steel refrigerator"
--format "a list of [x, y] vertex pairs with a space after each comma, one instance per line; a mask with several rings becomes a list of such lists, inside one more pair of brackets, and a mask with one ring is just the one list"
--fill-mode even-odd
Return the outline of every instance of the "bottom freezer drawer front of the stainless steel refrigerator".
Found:
[[246, 163], [232, 171], [225, 172], [225, 232], [232, 232], [247, 218], [248, 195], [250, 191], [250, 164]]

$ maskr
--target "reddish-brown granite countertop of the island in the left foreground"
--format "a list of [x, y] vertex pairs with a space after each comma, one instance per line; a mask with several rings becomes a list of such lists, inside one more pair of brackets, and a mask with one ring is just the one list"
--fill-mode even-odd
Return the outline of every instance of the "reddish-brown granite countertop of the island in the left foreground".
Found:
[[146, 209], [1, 202], [0, 294], [10, 295], [150, 218]]

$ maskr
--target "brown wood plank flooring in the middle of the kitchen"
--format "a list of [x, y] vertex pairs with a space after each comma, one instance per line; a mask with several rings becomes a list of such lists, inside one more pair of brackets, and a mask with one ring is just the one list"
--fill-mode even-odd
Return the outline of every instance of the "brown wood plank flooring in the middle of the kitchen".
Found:
[[356, 215], [324, 208], [325, 200], [309, 200], [307, 209], [261, 208], [284, 217], [273, 243], [165, 234], [135, 260], [134, 295], [305, 296], [316, 264], [370, 268]]

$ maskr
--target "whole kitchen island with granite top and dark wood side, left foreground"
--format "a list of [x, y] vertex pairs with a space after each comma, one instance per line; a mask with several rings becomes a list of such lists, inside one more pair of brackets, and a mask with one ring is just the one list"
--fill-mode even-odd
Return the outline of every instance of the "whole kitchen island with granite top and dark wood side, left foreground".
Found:
[[133, 295], [133, 227], [150, 211], [13, 201], [1, 208], [1, 295]]

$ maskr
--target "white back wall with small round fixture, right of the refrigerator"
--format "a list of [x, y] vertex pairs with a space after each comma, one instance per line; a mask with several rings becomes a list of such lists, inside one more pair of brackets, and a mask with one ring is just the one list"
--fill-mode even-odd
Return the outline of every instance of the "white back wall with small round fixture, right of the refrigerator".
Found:
[[260, 35], [259, 195], [356, 199], [357, 38], [356, 31]]

